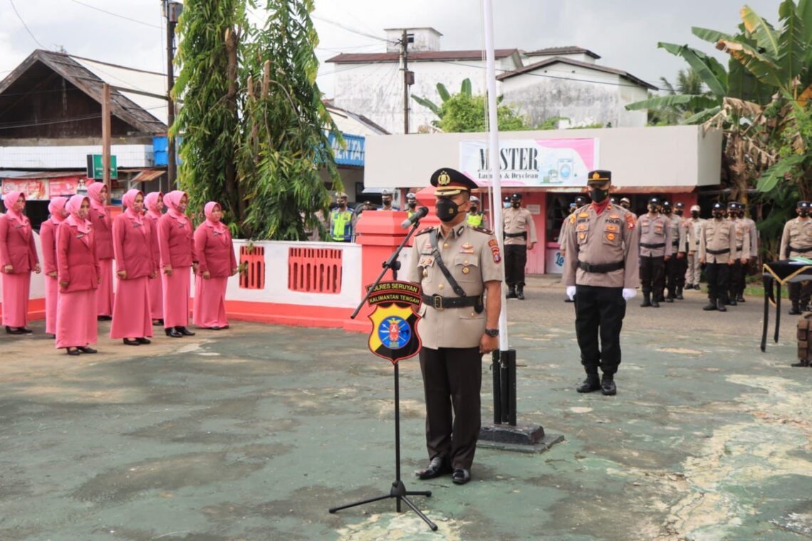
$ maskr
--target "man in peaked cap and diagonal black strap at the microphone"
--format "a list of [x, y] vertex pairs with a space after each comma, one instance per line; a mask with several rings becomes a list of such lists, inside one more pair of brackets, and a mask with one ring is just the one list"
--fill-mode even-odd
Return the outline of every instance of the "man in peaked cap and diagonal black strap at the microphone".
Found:
[[477, 184], [449, 167], [431, 175], [442, 222], [415, 235], [407, 279], [423, 289], [417, 324], [430, 463], [421, 479], [468, 483], [480, 428], [482, 354], [499, 346], [502, 255], [489, 230], [466, 221]]

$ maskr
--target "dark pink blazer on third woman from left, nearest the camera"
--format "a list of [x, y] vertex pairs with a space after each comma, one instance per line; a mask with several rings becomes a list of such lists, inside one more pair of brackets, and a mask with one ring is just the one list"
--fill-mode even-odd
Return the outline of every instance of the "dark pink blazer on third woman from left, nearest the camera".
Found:
[[96, 255], [94, 232], [82, 234], [70, 220], [63, 221], [56, 234], [56, 262], [58, 280], [67, 281], [61, 291], [95, 290], [102, 276]]

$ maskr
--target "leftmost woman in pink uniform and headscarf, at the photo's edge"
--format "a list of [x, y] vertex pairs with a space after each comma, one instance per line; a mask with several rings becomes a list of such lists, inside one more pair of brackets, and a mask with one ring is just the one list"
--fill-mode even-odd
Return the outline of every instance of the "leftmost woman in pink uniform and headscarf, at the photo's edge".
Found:
[[2, 324], [6, 333], [30, 334], [28, 291], [31, 271], [40, 272], [31, 221], [23, 214], [25, 194], [10, 191], [2, 200], [6, 212], [0, 216], [0, 272], [2, 272]]

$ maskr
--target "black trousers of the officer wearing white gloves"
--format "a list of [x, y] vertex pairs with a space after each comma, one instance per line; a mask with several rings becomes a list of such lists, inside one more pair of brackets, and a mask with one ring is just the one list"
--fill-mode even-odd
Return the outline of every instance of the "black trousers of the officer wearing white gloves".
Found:
[[607, 375], [617, 371], [625, 315], [622, 287], [575, 286], [575, 333], [585, 371], [598, 367]]

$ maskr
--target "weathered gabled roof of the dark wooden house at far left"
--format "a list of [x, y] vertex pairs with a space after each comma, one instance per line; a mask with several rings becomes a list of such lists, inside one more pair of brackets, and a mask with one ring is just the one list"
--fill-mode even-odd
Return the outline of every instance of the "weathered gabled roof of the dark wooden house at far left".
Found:
[[[0, 81], [0, 97], [2, 97], [2, 92], [5, 92], [6, 88], [11, 86], [11, 84], [13, 84], [20, 75], [23, 75], [26, 71], [28, 71], [28, 68], [32, 67], [32, 65], [34, 65], [36, 62], [42, 62], [45, 64], [45, 66], [50, 67], [51, 70], [70, 81], [71, 84], [74, 84], [77, 88], [80, 88], [89, 97], [92, 97], [93, 100], [99, 103], [102, 103], [102, 88], [104, 87], [105, 83], [116, 87], [127, 86], [126, 80], [110, 75], [109, 73], [106, 75], [105, 79], [102, 79], [99, 75], [94, 73], [94, 71], [91, 71], [89, 67], [82, 65], [80, 61], [72, 58], [68, 54], [37, 49], [32, 54], [28, 55], [28, 58], [20, 63], [19, 66], [14, 69], [14, 71], [11, 71], [10, 74], [6, 75], [5, 79]], [[114, 68], [119, 70], [129, 69], [126, 67], [115, 67], [114, 64], [89, 61], [87, 59], [83, 59], [82, 62], [102, 64], [104, 67], [96, 67], [95, 69], [95, 71], [99, 72], [103, 70], [112, 71]], [[140, 71], [140, 73], [149, 72]], [[135, 90], [139, 89], [135, 88]], [[163, 92], [166, 92], [166, 90]], [[166, 102], [164, 105], [166, 105]], [[129, 97], [125, 96], [123, 92], [119, 92], [119, 90], [116, 89], [110, 90], [110, 113], [122, 119], [124, 122], [127, 122], [132, 127], [136, 127], [136, 129], [144, 132], [145, 134], [166, 132], [166, 124], [164, 122], [158, 120], [158, 118], [149, 113], [149, 111], [144, 109], [144, 107], [138, 105], [135, 101], [132, 101]]]

